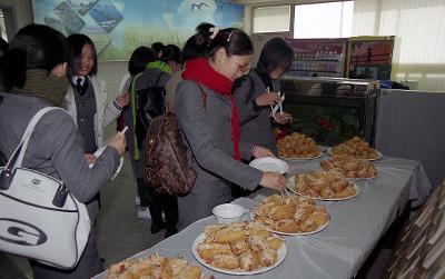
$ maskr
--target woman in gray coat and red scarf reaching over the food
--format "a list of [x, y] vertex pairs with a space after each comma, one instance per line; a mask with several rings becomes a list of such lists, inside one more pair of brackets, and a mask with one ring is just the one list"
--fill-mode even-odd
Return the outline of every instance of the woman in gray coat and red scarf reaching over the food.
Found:
[[179, 229], [211, 215], [231, 200], [230, 183], [281, 190], [286, 178], [244, 165], [240, 159], [274, 156], [268, 149], [239, 141], [238, 109], [231, 89], [249, 66], [250, 38], [240, 29], [209, 30], [207, 58], [187, 61], [176, 96], [175, 112], [191, 152], [197, 179], [178, 197]]

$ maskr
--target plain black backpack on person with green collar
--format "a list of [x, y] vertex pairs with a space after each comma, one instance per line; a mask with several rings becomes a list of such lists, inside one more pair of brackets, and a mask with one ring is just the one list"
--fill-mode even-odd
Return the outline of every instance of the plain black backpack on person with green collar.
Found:
[[[142, 139], [147, 134], [147, 129], [154, 118], [164, 114], [165, 111], [165, 88], [158, 86], [160, 77], [164, 72], [159, 73], [156, 79], [155, 86], [149, 86], [132, 91], [136, 93], [136, 124], [135, 132], [138, 139], [138, 147], [141, 149]], [[134, 84], [136, 83], [136, 78]]]

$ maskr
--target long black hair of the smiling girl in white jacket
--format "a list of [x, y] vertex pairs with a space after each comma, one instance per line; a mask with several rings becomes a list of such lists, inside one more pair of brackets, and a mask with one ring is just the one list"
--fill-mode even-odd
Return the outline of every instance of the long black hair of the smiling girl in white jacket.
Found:
[[92, 66], [88, 76], [91, 77], [91, 76], [96, 74], [97, 73], [97, 51], [96, 51], [96, 46], [92, 42], [92, 40], [86, 34], [75, 33], [75, 34], [70, 34], [68, 37], [68, 42], [71, 47], [71, 58], [68, 63], [69, 80], [71, 80], [71, 78], [73, 76], [76, 76], [76, 72], [79, 68], [80, 59], [82, 57], [82, 50], [86, 44], [91, 47], [92, 59], [95, 61], [95, 64]]

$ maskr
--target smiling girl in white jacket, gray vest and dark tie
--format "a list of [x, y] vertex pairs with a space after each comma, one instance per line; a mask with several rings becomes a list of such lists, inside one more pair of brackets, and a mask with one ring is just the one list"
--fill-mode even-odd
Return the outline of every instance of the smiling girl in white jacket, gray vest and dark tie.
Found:
[[68, 64], [68, 86], [63, 108], [71, 114], [83, 138], [86, 160], [96, 161], [95, 151], [103, 145], [103, 127], [115, 121], [128, 104], [128, 93], [107, 103], [105, 81], [97, 77], [95, 43], [81, 33], [70, 34], [71, 58]]

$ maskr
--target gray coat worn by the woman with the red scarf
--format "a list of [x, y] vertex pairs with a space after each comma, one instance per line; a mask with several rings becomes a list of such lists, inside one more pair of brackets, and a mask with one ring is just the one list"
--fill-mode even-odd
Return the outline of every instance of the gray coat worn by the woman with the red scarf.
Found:
[[[190, 80], [179, 83], [176, 96], [175, 113], [197, 172], [191, 191], [178, 197], [179, 229], [210, 216], [215, 206], [231, 201], [230, 182], [253, 190], [263, 177], [263, 171], [234, 159], [229, 99], [201, 87], [205, 102], [200, 88]], [[239, 147], [243, 159], [249, 159], [254, 146], [240, 141]]]

